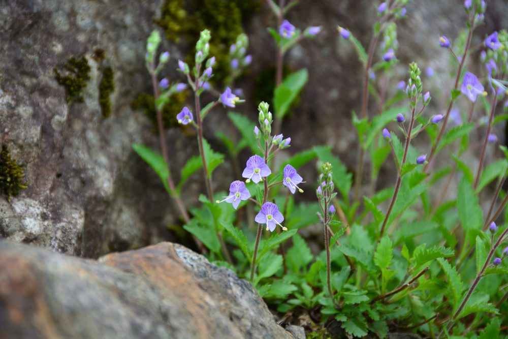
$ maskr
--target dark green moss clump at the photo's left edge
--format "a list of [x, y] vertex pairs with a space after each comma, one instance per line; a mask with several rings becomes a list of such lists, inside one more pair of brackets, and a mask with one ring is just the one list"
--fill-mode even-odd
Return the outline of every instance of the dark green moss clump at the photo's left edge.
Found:
[[13, 159], [7, 147], [2, 146], [0, 152], [0, 191], [10, 201], [11, 196], [16, 196], [19, 191], [26, 189], [27, 182], [23, 180], [25, 165], [19, 164]]

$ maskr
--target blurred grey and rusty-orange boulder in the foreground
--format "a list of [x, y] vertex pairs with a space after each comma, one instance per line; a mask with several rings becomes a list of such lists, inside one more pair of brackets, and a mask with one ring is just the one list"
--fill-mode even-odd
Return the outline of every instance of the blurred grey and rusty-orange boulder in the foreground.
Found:
[[0, 338], [287, 338], [229, 269], [164, 242], [98, 261], [0, 241]]

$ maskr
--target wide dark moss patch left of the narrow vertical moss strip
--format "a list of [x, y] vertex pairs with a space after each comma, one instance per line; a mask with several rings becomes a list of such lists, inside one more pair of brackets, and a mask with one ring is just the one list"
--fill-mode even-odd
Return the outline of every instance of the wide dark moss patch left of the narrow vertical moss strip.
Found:
[[86, 87], [86, 82], [90, 80], [90, 66], [86, 58], [71, 56], [63, 65], [63, 71], [59, 71], [56, 67], [53, 71], [56, 81], [65, 87], [67, 103], [83, 102], [81, 93]]

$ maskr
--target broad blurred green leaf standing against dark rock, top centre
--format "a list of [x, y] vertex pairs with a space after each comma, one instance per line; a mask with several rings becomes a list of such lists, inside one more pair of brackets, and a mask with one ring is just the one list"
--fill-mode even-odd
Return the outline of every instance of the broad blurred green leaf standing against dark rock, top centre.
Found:
[[291, 103], [307, 83], [308, 77], [307, 69], [304, 68], [286, 77], [275, 88], [273, 103], [275, 105], [275, 116], [278, 119], [282, 119], [288, 113]]

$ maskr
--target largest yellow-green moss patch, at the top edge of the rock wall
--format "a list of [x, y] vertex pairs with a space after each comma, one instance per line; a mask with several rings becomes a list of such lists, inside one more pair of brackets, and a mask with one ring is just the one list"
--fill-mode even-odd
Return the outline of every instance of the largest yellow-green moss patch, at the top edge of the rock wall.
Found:
[[[210, 55], [217, 60], [212, 81], [220, 83], [229, 72], [229, 47], [243, 32], [242, 22], [257, 13], [260, 5], [256, 0], [198, 0], [194, 3], [194, 15], [190, 15], [183, 0], [166, 0], [161, 18], [155, 23], [164, 29], [168, 40], [179, 42], [184, 38], [192, 44], [196, 43], [201, 30], [209, 29], [212, 33]], [[185, 61], [194, 64], [192, 49]]]

